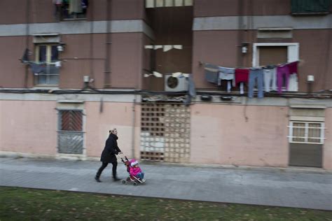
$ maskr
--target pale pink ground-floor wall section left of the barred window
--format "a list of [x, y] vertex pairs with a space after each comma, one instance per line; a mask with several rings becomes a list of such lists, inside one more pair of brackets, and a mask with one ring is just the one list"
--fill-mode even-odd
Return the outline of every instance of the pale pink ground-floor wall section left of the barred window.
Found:
[[55, 101], [0, 101], [0, 150], [57, 152]]

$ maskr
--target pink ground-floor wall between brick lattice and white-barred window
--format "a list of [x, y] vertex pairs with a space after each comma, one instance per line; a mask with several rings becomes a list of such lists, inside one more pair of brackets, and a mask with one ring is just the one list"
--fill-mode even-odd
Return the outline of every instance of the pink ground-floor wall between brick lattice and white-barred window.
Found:
[[191, 162], [287, 166], [287, 111], [279, 106], [193, 105]]

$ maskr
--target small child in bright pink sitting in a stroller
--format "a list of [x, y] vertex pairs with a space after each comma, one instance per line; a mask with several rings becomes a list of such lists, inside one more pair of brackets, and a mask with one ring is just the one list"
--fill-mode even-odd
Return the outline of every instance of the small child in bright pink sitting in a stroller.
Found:
[[132, 185], [137, 185], [145, 182], [144, 173], [141, 171], [136, 159], [129, 160], [127, 157], [125, 157], [125, 159], [121, 157], [121, 160], [127, 167], [127, 172], [129, 173], [127, 179], [122, 180], [123, 184], [132, 183]]

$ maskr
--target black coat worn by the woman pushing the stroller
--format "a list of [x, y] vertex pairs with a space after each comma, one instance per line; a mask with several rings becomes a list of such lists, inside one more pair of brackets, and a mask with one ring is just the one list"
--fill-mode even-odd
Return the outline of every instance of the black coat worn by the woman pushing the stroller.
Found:
[[105, 143], [105, 148], [102, 151], [102, 157], [100, 157], [101, 162], [113, 163], [117, 161], [116, 155], [118, 155], [118, 152], [121, 152], [120, 148], [118, 148], [117, 139], [118, 136], [116, 136], [116, 134], [109, 134], [109, 138], [107, 138]]

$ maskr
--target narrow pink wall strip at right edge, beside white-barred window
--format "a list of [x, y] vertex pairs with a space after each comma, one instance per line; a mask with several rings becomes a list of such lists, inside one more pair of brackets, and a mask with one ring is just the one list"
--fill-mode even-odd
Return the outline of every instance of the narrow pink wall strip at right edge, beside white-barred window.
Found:
[[323, 168], [332, 170], [332, 108], [326, 108], [325, 110], [325, 128]]

